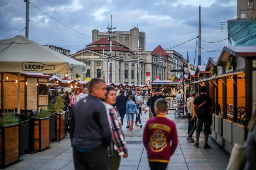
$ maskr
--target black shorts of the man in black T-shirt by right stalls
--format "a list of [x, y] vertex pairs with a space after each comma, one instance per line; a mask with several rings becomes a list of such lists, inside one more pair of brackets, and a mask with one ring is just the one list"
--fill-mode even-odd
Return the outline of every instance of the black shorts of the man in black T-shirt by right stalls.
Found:
[[196, 132], [200, 134], [204, 125], [204, 135], [208, 136], [211, 133], [212, 117], [197, 118]]

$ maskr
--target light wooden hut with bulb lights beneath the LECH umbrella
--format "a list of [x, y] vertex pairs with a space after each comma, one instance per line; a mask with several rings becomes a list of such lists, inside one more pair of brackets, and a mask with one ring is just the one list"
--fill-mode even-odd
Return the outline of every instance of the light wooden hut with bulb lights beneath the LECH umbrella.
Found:
[[[39, 110], [48, 105], [48, 83], [51, 76], [42, 73], [22, 73], [20, 82], [20, 109]], [[17, 108], [18, 75], [0, 73], [0, 109]]]

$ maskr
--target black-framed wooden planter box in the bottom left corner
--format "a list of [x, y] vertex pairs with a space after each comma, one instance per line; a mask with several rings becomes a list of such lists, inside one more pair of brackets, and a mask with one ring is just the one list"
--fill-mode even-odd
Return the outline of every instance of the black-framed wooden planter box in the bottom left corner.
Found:
[[19, 162], [19, 123], [0, 127], [0, 168]]

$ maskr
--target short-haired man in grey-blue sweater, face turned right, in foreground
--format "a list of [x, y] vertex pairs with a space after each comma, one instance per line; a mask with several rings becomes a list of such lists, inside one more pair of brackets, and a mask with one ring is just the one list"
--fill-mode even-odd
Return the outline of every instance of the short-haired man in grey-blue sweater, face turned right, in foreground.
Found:
[[89, 95], [72, 108], [70, 137], [76, 170], [108, 170], [108, 150], [111, 129], [106, 108], [101, 99], [106, 95], [105, 82], [93, 78]]

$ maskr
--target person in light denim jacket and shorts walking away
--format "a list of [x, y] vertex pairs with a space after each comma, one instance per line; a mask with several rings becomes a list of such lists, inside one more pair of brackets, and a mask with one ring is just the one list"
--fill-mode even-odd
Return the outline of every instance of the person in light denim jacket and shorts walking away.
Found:
[[133, 102], [133, 95], [130, 95], [128, 101], [126, 102], [126, 113], [128, 115], [130, 131], [133, 131], [133, 119], [134, 115], [138, 116], [137, 107], [135, 102]]

